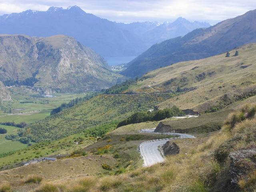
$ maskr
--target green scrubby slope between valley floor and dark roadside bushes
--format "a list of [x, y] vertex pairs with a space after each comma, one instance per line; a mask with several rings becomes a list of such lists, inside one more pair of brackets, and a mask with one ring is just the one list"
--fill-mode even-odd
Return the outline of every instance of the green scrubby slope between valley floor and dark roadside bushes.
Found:
[[[32, 124], [29, 132], [36, 140], [56, 140], [86, 128], [121, 120], [137, 111], [154, 108], [173, 94], [100, 95], [78, 106]], [[28, 130], [28, 129], [27, 129]]]

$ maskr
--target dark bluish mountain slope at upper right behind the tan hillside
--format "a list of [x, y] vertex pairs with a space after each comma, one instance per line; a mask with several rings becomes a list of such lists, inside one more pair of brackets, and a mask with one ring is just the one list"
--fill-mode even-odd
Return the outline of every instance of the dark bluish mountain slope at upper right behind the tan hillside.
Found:
[[150, 70], [176, 62], [202, 59], [256, 42], [255, 23], [256, 10], [253, 10], [215, 26], [196, 29], [184, 37], [155, 44], [132, 60], [122, 74], [141, 76]]

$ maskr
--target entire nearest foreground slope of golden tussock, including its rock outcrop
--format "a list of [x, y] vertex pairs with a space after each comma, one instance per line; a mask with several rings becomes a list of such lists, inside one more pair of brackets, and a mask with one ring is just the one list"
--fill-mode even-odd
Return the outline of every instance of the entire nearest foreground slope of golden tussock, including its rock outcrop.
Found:
[[245, 106], [230, 115], [218, 134], [202, 139], [204, 144], [188, 139], [186, 153], [168, 156], [164, 163], [116, 176], [43, 182], [37, 191], [254, 192], [255, 111]]

